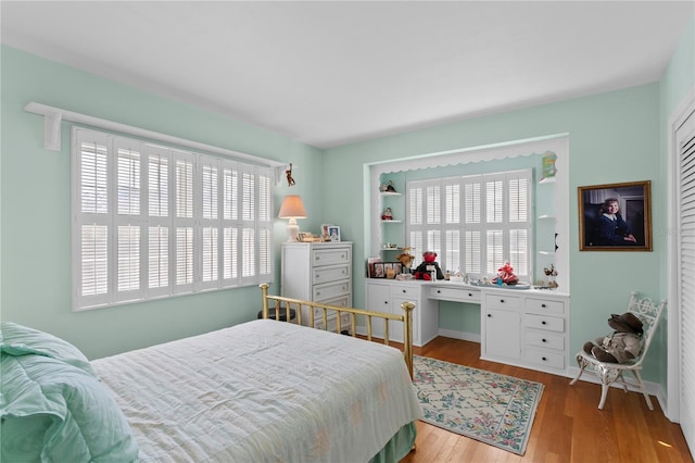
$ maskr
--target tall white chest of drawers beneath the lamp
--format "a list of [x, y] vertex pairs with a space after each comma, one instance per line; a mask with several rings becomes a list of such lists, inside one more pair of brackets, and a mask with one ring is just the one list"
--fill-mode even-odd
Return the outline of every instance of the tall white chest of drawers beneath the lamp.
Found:
[[[352, 242], [283, 242], [281, 248], [282, 296], [352, 306]], [[302, 324], [309, 324], [308, 308], [302, 308]], [[327, 325], [336, 330], [336, 313], [329, 313]], [[350, 326], [343, 314], [341, 329]], [[323, 310], [314, 311], [314, 327], [324, 327]]]

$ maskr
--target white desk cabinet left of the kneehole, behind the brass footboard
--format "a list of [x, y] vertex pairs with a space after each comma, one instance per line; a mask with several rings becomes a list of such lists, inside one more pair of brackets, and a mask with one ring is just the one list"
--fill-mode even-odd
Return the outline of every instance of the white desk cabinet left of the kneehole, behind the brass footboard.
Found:
[[[429, 299], [429, 287], [420, 281], [396, 281], [379, 278], [365, 280], [365, 306], [375, 312], [402, 315], [403, 302], [415, 304], [413, 311], [413, 345], [425, 346], [434, 339], [439, 330], [439, 312], [435, 301]], [[371, 335], [383, 337], [383, 322], [372, 318]], [[403, 323], [389, 321], [389, 339], [403, 341]]]

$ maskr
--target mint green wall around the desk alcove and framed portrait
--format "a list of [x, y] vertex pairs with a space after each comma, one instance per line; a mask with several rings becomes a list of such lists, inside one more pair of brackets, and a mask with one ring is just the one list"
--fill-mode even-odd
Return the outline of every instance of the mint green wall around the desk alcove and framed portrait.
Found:
[[[327, 150], [324, 161], [326, 175], [341, 172], [342, 178], [354, 178], [355, 182], [345, 184], [348, 195], [336, 198], [326, 210], [325, 217], [340, 224], [353, 237], [364, 235], [363, 211], [350, 209], [350, 203], [364, 203], [363, 188], [357, 180], [364, 178], [364, 164], [568, 133], [570, 351], [578, 350], [585, 340], [609, 330], [606, 315], [624, 310], [630, 291], [640, 290], [656, 300], [668, 296], [665, 278], [667, 237], [662, 233], [668, 226], [665, 120], [695, 84], [694, 47], [691, 21], [660, 83], [442, 124]], [[647, 179], [652, 180], [654, 251], [580, 252], [577, 188]], [[341, 211], [341, 214], [333, 211]], [[358, 261], [359, 256], [370, 252], [363, 246], [368, 239], [353, 239], [357, 241], [355, 260]], [[356, 263], [357, 270], [362, 266], [361, 262]], [[359, 305], [364, 304], [364, 276], [358, 271], [355, 275], [354, 303]], [[459, 310], [456, 304], [440, 306], [442, 323], [457, 323], [456, 310]], [[466, 330], [465, 327], [470, 326], [469, 320], [460, 321], [458, 326], [442, 326], [442, 323], [440, 326], [448, 329]], [[644, 375], [662, 386], [666, 384], [666, 336], [662, 335], [645, 362]]]

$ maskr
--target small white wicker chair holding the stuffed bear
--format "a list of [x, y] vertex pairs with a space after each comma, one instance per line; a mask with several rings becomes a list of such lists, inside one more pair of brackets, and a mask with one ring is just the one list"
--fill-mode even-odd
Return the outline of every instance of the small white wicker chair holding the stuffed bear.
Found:
[[[579, 373], [577, 373], [574, 379], [570, 381], [570, 386], [577, 383], [582, 373], [592, 373], [596, 375], [598, 377], [598, 380], [601, 381], [601, 402], [598, 402], [598, 410], [604, 409], [608, 388], [614, 383], [622, 385], [622, 388], [626, 392], [628, 391], [628, 386], [632, 386], [639, 389], [644, 396], [649, 410], [654, 410], [652, 399], [649, 399], [649, 395], [647, 393], [646, 389], [644, 388], [644, 384], [642, 383], [640, 371], [642, 370], [644, 358], [649, 351], [649, 346], [652, 345], [652, 340], [654, 339], [656, 328], [659, 325], [659, 321], [661, 320], [661, 315], [664, 314], [665, 309], [665, 300], [662, 300], [658, 305], [655, 305], [654, 302], [652, 302], [652, 299], [640, 299], [637, 298], [636, 292], [632, 292], [632, 295], [630, 296], [630, 303], [628, 304], [628, 312], [632, 312], [642, 321], [642, 328], [644, 329], [644, 334], [642, 336], [643, 345], [640, 354], [634, 360], [627, 363], [607, 363], [599, 362], [592, 354], [580, 350], [579, 352], [577, 352]], [[635, 379], [634, 383], [626, 380], [623, 374], [627, 372], [632, 374]]]

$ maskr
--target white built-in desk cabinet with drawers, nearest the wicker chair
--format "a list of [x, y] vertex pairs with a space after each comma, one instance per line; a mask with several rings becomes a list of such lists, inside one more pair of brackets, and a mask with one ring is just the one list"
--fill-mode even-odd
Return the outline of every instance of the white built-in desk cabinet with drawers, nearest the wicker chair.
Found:
[[481, 310], [481, 359], [567, 375], [567, 295], [485, 288]]

